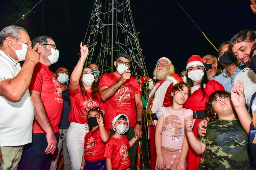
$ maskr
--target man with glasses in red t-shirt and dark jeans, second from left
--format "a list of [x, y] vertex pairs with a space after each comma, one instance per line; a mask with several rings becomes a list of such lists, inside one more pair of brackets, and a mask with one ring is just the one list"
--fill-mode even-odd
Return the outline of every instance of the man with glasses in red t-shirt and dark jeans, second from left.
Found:
[[33, 142], [24, 145], [18, 169], [50, 169], [63, 108], [62, 87], [49, 70], [58, 61], [59, 51], [51, 37], [36, 37], [32, 45], [36, 43], [40, 60], [28, 87], [35, 108]]

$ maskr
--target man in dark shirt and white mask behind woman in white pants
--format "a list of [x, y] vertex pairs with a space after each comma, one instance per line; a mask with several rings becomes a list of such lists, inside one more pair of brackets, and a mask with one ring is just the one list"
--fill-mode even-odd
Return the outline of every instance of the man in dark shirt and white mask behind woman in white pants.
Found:
[[71, 164], [70, 164], [67, 143], [66, 143], [67, 131], [70, 124], [68, 122], [68, 116], [71, 111], [71, 105], [69, 102], [69, 94], [68, 94], [68, 80], [69, 80], [68, 69], [66, 67], [57, 68], [57, 70], [55, 71], [55, 76], [57, 80], [60, 82], [60, 85], [62, 87], [63, 110], [62, 110], [62, 116], [59, 124], [60, 138], [57, 144], [57, 148], [54, 154], [52, 155], [52, 163], [51, 163], [50, 170], [56, 170], [61, 149], [63, 153], [63, 164], [64, 164], [63, 170], [69, 170], [71, 169]]

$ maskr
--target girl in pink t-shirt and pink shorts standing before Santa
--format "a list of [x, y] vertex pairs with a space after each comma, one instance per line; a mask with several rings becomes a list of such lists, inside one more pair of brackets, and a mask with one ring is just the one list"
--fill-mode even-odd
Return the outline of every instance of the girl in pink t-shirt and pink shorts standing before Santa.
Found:
[[183, 108], [188, 96], [190, 87], [180, 82], [173, 86], [171, 107], [158, 108], [157, 114], [161, 114], [156, 124], [156, 169], [183, 169], [186, 167], [188, 153], [188, 141], [184, 133], [185, 121], [193, 119], [193, 112]]

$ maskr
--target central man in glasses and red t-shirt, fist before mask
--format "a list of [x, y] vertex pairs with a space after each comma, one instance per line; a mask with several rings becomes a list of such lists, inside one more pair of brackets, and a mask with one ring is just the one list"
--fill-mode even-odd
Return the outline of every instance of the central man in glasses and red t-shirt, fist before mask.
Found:
[[[116, 71], [103, 74], [100, 78], [99, 92], [102, 101], [105, 103], [105, 127], [113, 135], [112, 120], [118, 113], [124, 113], [129, 118], [130, 129], [125, 134], [128, 140], [133, 137], [141, 137], [142, 131], [142, 97], [138, 81], [131, 76], [131, 57], [126, 53], [120, 53], [116, 57], [114, 65]], [[136, 143], [128, 150], [131, 166], [134, 169], [137, 154]]]

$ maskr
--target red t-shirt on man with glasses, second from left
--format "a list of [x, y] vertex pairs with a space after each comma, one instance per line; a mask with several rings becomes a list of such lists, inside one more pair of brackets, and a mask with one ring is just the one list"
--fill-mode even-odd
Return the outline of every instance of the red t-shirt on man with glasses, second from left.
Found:
[[[59, 133], [59, 123], [63, 108], [62, 88], [49, 67], [38, 62], [34, 68], [32, 79], [28, 87], [41, 93], [40, 98], [44, 104], [47, 117], [49, 118], [54, 133]], [[45, 133], [37, 124], [33, 123], [33, 133]]]

